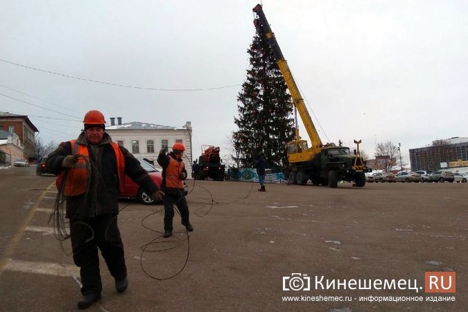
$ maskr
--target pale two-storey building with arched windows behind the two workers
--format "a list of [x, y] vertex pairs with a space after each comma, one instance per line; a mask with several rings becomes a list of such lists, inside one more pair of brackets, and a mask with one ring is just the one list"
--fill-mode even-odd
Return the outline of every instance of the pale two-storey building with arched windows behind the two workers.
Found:
[[155, 162], [155, 165], [157, 165], [159, 150], [165, 148], [166, 151], [171, 151], [175, 142], [181, 142], [186, 148], [183, 158], [185, 168], [189, 177], [191, 176], [192, 127], [190, 121], [187, 121], [182, 128], [139, 121], [122, 123], [121, 117], [117, 117], [117, 123], [115, 123], [115, 117], [111, 117], [110, 123], [110, 126], [105, 127], [105, 131], [112, 137], [112, 141], [127, 148], [135, 157], [144, 157]]

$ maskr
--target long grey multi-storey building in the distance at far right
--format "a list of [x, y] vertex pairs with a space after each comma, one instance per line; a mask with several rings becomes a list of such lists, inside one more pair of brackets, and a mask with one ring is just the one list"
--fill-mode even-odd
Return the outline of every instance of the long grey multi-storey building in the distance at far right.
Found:
[[468, 166], [468, 137], [433, 141], [431, 146], [410, 149], [411, 170], [437, 170]]

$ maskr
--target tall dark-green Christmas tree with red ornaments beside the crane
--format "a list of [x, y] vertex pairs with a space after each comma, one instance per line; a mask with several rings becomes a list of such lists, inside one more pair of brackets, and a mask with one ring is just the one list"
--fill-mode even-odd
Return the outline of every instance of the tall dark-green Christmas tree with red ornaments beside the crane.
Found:
[[248, 49], [250, 69], [237, 96], [239, 128], [232, 141], [236, 162], [252, 168], [263, 154], [270, 168], [286, 162], [286, 146], [294, 137], [293, 103], [270, 45], [256, 34]]

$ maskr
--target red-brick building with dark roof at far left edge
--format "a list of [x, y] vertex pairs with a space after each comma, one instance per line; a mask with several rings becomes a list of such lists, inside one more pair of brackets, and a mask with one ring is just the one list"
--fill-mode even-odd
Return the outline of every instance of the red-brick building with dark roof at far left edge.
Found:
[[[11, 135], [16, 134], [19, 139], [19, 147], [23, 150], [22, 153], [24, 155], [17, 157], [9, 153], [10, 156], [17, 157], [16, 159], [12, 159], [12, 162], [18, 159], [25, 159], [31, 162], [36, 158], [34, 138], [35, 132], [39, 132], [39, 130], [28, 119], [28, 116], [0, 112], [0, 130], [5, 130]], [[14, 141], [13, 136], [12, 141]], [[3, 153], [8, 153], [8, 149]]]

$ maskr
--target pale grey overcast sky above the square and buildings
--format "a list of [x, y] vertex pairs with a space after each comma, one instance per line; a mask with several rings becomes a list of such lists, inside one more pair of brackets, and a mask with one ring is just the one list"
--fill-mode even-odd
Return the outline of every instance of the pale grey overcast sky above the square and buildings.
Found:
[[[257, 0], [0, 4], [0, 60], [151, 88], [0, 61], [0, 111], [30, 116], [44, 143], [77, 137], [98, 109], [108, 122], [191, 121], [194, 150], [227, 154]], [[409, 162], [409, 148], [468, 137], [468, 1], [265, 0], [263, 11], [322, 141], [362, 139], [370, 156], [400, 142]]]

